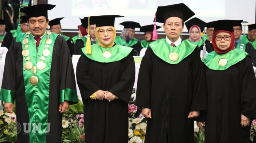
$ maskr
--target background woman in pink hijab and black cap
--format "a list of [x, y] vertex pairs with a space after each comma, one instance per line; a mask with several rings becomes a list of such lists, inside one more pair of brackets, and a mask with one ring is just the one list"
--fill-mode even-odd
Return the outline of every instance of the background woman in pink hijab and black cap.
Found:
[[[203, 32], [204, 28], [203, 26], [206, 24], [206, 22], [202, 21], [201, 19], [195, 17], [190, 19], [189, 21], [185, 22], [185, 25], [188, 29], [189, 38], [185, 41], [189, 41], [192, 44], [198, 45], [198, 48], [200, 50], [203, 50], [204, 46], [204, 39], [207, 40], [207, 37], [201, 37], [201, 32]], [[206, 43], [206, 51], [212, 52], [213, 48], [210, 46], [210, 43]]]

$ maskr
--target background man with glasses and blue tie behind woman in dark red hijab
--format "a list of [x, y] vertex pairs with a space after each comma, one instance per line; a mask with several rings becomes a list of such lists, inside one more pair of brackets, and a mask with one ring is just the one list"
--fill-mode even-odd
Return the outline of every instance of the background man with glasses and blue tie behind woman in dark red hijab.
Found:
[[233, 28], [234, 28], [234, 35], [235, 35], [235, 48], [239, 48], [247, 52], [250, 55], [250, 58], [254, 67], [256, 67], [256, 51], [253, 48], [253, 45], [250, 42], [243, 44], [242, 39], [240, 38], [240, 36], [243, 33], [242, 24], [234, 23]]

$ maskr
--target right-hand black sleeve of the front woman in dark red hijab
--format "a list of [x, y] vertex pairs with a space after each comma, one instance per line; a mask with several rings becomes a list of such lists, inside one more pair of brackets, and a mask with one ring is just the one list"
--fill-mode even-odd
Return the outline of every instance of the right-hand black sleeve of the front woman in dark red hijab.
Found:
[[250, 119], [256, 119], [256, 79], [249, 56], [243, 60], [242, 73], [242, 114]]

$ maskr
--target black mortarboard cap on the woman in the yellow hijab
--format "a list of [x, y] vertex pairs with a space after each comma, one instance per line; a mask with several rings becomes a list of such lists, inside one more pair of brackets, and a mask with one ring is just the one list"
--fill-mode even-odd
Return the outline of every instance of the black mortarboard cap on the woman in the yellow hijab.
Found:
[[113, 26], [115, 25], [115, 18], [116, 17], [124, 17], [120, 15], [100, 15], [100, 16], [92, 16], [92, 18], [95, 21], [96, 27], [101, 26]]

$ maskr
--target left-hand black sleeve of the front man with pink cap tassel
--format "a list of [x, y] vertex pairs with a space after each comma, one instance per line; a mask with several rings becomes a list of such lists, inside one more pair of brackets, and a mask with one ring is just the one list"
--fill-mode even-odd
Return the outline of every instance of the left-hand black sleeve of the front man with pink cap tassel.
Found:
[[[152, 81], [152, 50], [147, 48], [145, 55], [142, 58], [138, 82], [137, 82], [137, 95], [136, 106], [151, 109], [151, 81]], [[143, 90], [138, 90], [143, 89]]]

